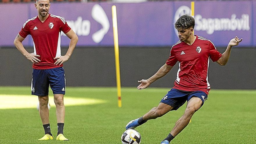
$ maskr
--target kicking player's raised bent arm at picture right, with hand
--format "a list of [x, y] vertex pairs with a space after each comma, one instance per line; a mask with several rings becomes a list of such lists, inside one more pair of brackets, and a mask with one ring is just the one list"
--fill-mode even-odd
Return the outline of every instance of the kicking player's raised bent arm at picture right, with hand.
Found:
[[233, 38], [232, 40], [230, 40], [230, 42], [227, 45], [226, 51], [222, 54], [221, 58], [216, 62], [220, 65], [226, 65], [226, 63], [229, 59], [229, 56], [230, 56], [231, 48], [233, 46], [237, 46], [239, 44], [239, 42], [241, 42], [242, 40], [243, 40], [242, 38], [239, 40], [239, 38], [237, 38], [237, 36], [235, 38]]

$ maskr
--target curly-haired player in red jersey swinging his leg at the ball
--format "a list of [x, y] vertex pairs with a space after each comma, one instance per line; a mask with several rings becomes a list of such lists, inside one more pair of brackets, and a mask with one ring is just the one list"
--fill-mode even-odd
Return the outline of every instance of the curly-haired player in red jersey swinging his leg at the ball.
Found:
[[172, 110], [177, 110], [187, 101], [187, 107], [181, 118], [175, 123], [170, 134], [161, 141], [169, 144], [188, 124], [192, 115], [200, 109], [207, 99], [210, 90], [208, 82], [208, 67], [210, 59], [220, 65], [225, 65], [229, 59], [231, 47], [237, 46], [242, 39], [230, 40], [226, 51], [221, 54], [214, 44], [201, 36], [193, 35], [195, 20], [189, 15], [181, 16], [175, 23], [179, 41], [170, 50], [166, 63], [149, 79], [138, 81], [137, 88], [147, 88], [151, 83], [165, 76], [178, 62], [179, 70], [174, 87], [163, 97], [157, 107], [152, 108], [141, 118], [131, 120], [126, 129], [134, 129], [150, 119], [161, 117]]

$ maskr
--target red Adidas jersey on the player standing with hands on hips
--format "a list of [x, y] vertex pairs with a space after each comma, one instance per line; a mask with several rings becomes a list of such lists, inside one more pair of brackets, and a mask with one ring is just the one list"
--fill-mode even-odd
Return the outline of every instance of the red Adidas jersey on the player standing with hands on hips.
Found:
[[54, 65], [54, 58], [61, 56], [61, 31], [67, 33], [71, 28], [65, 19], [60, 16], [51, 15], [45, 22], [41, 22], [38, 16], [26, 21], [19, 35], [26, 38], [31, 35], [34, 42], [34, 54], [40, 55], [40, 62], [33, 64], [34, 69], [51, 69], [62, 67]]

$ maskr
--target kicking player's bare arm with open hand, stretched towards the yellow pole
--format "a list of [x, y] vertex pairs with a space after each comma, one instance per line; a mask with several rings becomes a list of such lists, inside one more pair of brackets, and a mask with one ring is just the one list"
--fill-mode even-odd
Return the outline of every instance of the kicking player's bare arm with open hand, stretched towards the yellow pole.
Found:
[[161, 77], [165, 76], [168, 72], [170, 72], [170, 70], [172, 68], [173, 68], [172, 66], [164, 64], [162, 67], [160, 67], [160, 69], [157, 71], [157, 73], [154, 74], [149, 79], [142, 79], [142, 80], [138, 81], [141, 84], [137, 88], [139, 90], [147, 88], [151, 83], [153, 83], [154, 81], [160, 79]]

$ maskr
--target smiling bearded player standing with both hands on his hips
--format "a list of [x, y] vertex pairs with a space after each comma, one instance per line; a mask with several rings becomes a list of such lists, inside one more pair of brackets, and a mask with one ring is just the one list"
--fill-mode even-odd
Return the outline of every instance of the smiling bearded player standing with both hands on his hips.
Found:
[[[39, 114], [45, 129], [45, 136], [38, 140], [53, 139], [50, 130], [48, 93], [49, 85], [54, 94], [56, 104], [56, 117], [58, 125], [57, 140], [68, 140], [63, 135], [65, 106], [65, 75], [63, 63], [67, 61], [77, 44], [76, 33], [67, 25], [65, 19], [49, 14], [49, 0], [36, 0], [35, 8], [38, 16], [26, 21], [14, 40], [17, 49], [33, 63], [31, 94], [39, 99]], [[70, 45], [65, 56], [61, 56], [60, 38], [61, 31], [70, 38]], [[28, 53], [22, 41], [31, 35], [34, 42], [34, 52]]]

